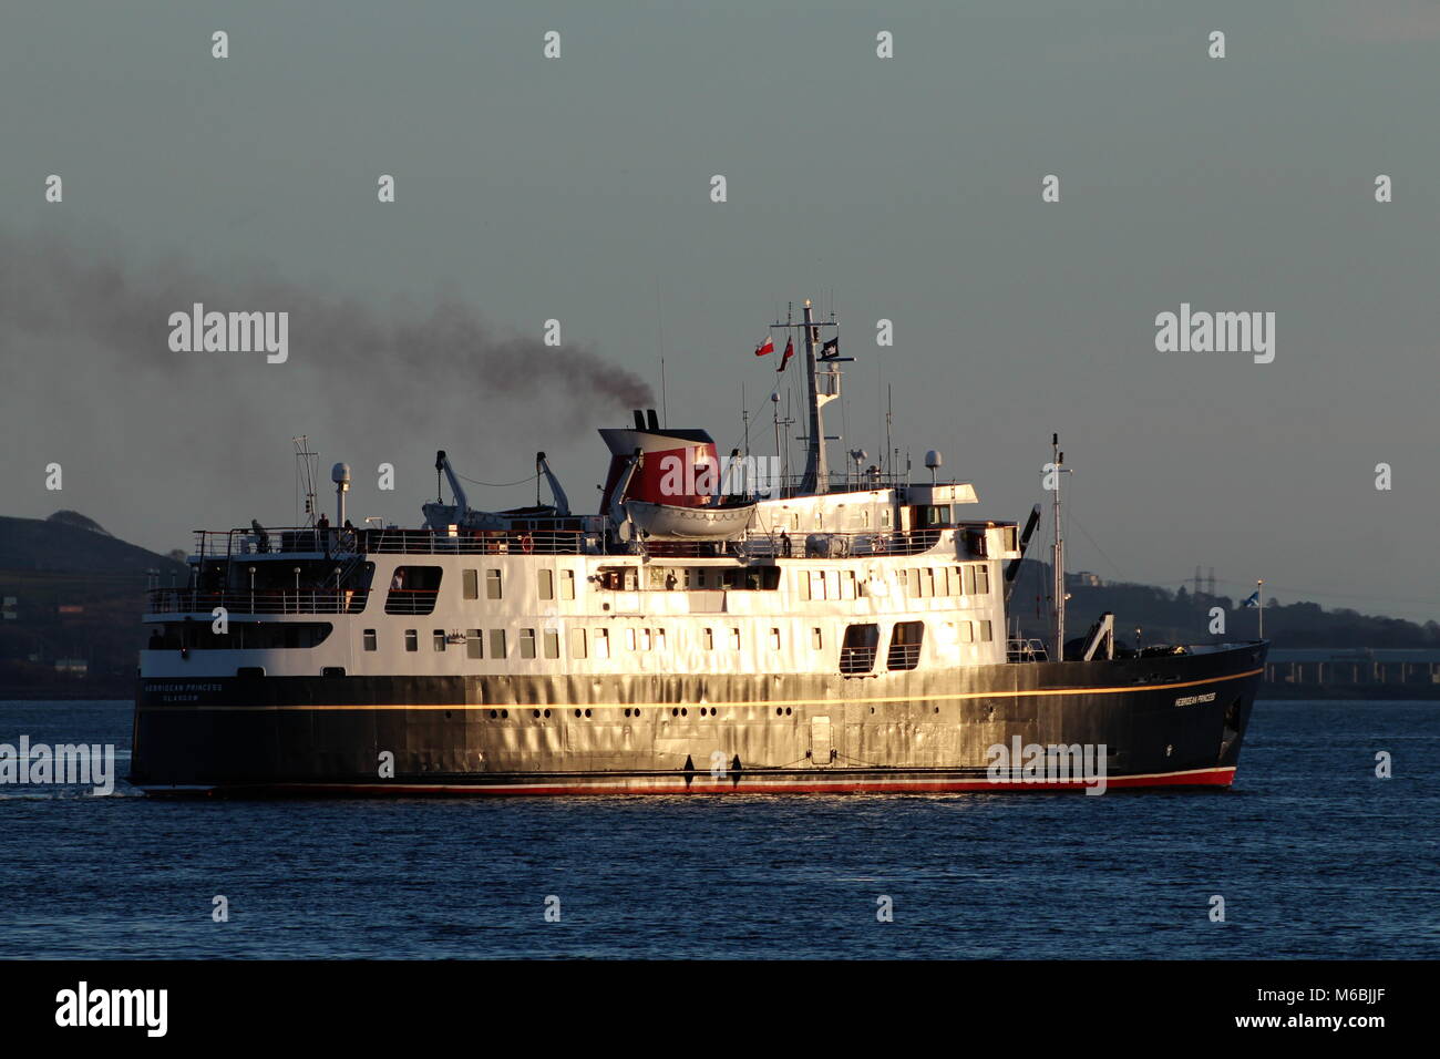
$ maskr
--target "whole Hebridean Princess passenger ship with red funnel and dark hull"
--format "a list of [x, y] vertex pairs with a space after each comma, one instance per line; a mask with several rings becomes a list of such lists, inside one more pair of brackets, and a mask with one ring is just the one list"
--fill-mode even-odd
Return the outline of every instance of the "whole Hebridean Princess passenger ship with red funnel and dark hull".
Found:
[[775, 457], [756, 458], [636, 409], [599, 431], [596, 513], [570, 510], [543, 452], [536, 504], [472, 507], [442, 450], [422, 524], [354, 526], [348, 467], [331, 473], [331, 522], [298, 444], [302, 524], [197, 530], [189, 582], [147, 592], [131, 784], [238, 797], [1233, 784], [1266, 641], [1128, 645], [1113, 614], [1067, 640], [1057, 437], [1053, 635], [1022, 635], [1008, 605], [1041, 506], [1024, 524], [971, 517], [973, 484], [942, 480], [936, 451], [927, 481], [909, 460], [864, 465], [861, 450], [832, 471], [824, 409], [852, 360], [838, 323], [805, 301], [772, 329], [804, 346], [793, 477], [779, 411]]

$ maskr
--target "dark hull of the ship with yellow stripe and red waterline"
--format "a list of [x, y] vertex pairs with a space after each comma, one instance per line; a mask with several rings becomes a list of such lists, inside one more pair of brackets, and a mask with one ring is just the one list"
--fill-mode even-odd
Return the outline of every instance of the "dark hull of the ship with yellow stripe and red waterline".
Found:
[[991, 748], [1018, 742], [1103, 745], [1112, 788], [1224, 787], [1264, 650], [848, 679], [141, 679], [130, 779], [256, 795], [1093, 787], [996, 782]]

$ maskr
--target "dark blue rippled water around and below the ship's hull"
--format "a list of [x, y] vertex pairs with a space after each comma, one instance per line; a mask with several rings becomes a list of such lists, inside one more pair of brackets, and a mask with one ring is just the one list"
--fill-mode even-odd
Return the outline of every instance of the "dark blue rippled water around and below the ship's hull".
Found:
[[[115, 743], [127, 771], [128, 703], [0, 703], [0, 742], [22, 733]], [[1395, 778], [1375, 778], [1377, 751]], [[1434, 958], [1436, 761], [1440, 703], [1261, 702], [1227, 792], [230, 803], [0, 787], [0, 957]]]

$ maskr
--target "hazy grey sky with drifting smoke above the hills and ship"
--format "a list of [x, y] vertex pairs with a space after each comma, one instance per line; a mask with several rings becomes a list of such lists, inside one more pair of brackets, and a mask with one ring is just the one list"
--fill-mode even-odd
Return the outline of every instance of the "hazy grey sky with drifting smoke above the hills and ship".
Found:
[[[301, 432], [360, 516], [418, 523], [436, 448], [485, 481], [544, 448], [593, 509], [661, 331], [671, 425], [739, 444], [744, 386], [768, 450], [752, 349], [814, 297], [858, 357], [844, 447], [891, 386], [919, 475], [939, 448], [1024, 519], [1060, 431], [1073, 568], [1440, 611], [1440, 3], [498, 7], [4, 6], [0, 513], [288, 524]], [[192, 301], [292, 311], [289, 360], [171, 353]], [[1181, 303], [1273, 311], [1274, 362], [1158, 353]]]

